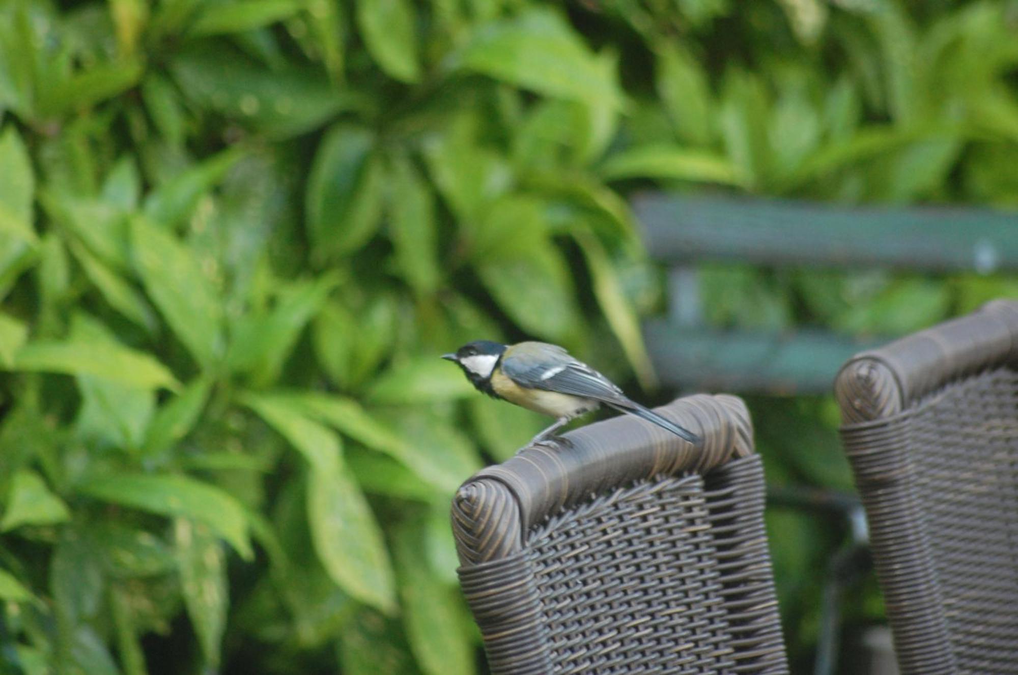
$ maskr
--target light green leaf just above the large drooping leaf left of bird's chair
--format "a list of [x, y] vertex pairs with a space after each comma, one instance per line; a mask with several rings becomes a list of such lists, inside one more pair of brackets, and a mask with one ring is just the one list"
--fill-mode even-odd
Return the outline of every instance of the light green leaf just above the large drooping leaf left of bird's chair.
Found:
[[339, 438], [318, 422], [307, 419], [301, 407], [285, 395], [246, 393], [241, 403], [258, 413], [312, 466], [313, 473], [332, 475], [342, 464]]

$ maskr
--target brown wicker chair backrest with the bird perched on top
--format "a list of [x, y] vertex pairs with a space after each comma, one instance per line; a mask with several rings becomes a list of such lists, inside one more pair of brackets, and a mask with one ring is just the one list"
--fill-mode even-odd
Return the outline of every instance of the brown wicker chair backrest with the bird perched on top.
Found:
[[734, 396], [531, 446], [452, 509], [459, 578], [495, 675], [787, 673], [764, 473]]

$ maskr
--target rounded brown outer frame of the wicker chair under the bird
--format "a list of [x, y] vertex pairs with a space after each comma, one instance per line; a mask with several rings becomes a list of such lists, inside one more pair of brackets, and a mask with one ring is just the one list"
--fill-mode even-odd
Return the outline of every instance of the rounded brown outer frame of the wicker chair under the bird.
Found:
[[715, 533], [737, 533], [725, 535], [715, 565], [724, 597], [717, 613], [731, 636], [717, 646], [724, 672], [788, 672], [764, 529], [762, 467], [745, 405], [735, 396], [699, 394], [657, 412], [698, 433], [702, 447], [622, 416], [570, 432], [561, 444], [524, 448], [460, 488], [452, 508], [457, 571], [495, 675], [556, 672], [527, 557], [528, 542], [550, 518], [645, 489], [646, 481], [696, 475], [703, 480], [711, 537], [722, 541]]

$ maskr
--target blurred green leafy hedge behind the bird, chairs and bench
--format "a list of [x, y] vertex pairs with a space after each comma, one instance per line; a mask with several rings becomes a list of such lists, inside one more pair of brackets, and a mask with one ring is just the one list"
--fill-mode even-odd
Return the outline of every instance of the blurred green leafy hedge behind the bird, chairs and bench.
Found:
[[[656, 186], [1018, 205], [1018, 3], [0, 2], [2, 672], [479, 672], [449, 499], [546, 421], [437, 355], [668, 400]], [[851, 335], [1018, 295], [699, 275], [717, 326]], [[830, 398], [750, 404], [773, 483], [850, 488]], [[840, 535], [770, 527], [805, 670]]]

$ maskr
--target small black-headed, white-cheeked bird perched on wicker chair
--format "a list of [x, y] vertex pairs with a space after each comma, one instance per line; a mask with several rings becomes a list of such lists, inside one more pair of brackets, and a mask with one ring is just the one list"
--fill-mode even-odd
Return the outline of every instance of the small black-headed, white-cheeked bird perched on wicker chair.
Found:
[[641, 417], [694, 445], [700, 443], [699, 436], [629, 400], [611, 380], [558, 345], [477, 340], [442, 358], [459, 364], [479, 391], [558, 418], [530, 444], [546, 440], [570, 420], [602, 405]]

